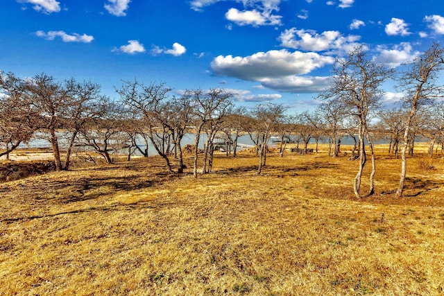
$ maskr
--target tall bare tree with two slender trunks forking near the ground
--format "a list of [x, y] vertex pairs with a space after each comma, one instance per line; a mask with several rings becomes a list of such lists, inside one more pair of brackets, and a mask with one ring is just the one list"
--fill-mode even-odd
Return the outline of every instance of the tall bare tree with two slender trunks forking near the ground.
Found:
[[383, 94], [380, 87], [387, 78], [391, 77], [393, 70], [368, 60], [365, 47], [361, 45], [350, 51], [345, 59], [336, 59], [333, 73], [332, 85], [330, 89], [321, 94], [321, 97], [347, 106], [350, 108], [351, 114], [357, 117], [359, 122], [359, 170], [355, 177], [353, 191], [357, 198], [361, 197], [361, 177], [367, 160], [365, 138], [370, 148], [372, 161], [368, 191], [368, 195], [372, 195], [376, 164], [373, 143], [368, 132], [368, 121], [371, 112], [377, 109], [379, 98]]

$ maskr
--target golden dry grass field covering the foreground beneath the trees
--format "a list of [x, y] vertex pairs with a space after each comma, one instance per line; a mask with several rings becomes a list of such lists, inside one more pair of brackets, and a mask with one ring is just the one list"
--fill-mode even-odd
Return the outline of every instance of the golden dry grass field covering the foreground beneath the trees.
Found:
[[262, 175], [240, 154], [197, 180], [151, 157], [3, 182], [0, 295], [443, 295], [444, 159], [409, 158], [396, 198], [400, 159], [377, 151], [361, 200], [357, 162], [325, 152]]

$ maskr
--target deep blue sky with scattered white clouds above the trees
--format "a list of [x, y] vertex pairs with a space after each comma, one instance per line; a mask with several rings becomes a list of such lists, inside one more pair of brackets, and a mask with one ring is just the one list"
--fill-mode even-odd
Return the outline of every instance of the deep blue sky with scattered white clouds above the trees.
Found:
[[[2, 0], [0, 70], [121, 80], [310, 110], [334, 58], [364, 43], [398, 67], [444, 39], [444, 0]], [[387, 85], [387, 99], [399, 96]]]

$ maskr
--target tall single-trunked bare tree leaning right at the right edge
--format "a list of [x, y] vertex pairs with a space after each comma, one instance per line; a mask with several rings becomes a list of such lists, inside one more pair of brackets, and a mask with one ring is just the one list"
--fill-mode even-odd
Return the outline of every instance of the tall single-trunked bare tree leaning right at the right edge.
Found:
[[404, 143], [401, 150], [400, 183], [396, 195], [402, 196], [407, 174], [407, 146], [411, 134], [411, 126], [416, 112], [435, 98], [442, 97], [444, 86], [438, 84], [438, 74], [444, 69], [444, 49], [438, 44], [432, 44], [424, 53], [408, 64], [407, 70], [400, 77], [398, 89], [404, 93], [404, 103], [409, 108], [405, 122]]

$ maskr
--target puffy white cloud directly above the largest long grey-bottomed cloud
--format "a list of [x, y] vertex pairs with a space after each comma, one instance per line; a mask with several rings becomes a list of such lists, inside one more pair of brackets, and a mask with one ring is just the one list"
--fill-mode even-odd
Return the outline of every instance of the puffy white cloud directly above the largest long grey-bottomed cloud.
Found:
[[302, 49], [306, 51], [331, 51], [344, 50], [349, 51], [358, 44], [361, 39], [358, 35], [341, 35], [339, 31], [325, 31], [321, 34], [311, 30], [296, 30], [291, 28], [281, 33], [278, 40], [281, 46], [291, 49]]

